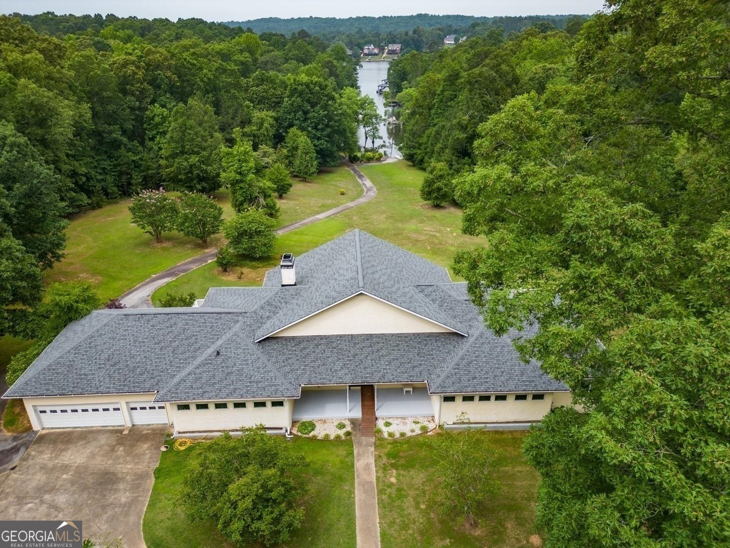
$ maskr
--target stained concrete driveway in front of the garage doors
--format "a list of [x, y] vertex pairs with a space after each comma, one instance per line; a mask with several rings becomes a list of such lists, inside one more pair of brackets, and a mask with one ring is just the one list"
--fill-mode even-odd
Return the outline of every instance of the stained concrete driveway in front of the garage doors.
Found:
[[144, 547], [142, 517], [169, 427], [42, 430], [0, 476], [3, 520], [82, 520], [84, 538]]

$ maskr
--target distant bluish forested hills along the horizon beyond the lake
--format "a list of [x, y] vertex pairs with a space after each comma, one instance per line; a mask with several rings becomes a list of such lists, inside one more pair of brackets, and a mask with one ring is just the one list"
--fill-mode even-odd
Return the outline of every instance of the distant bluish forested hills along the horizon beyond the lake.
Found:
[[544, 28], [580, 26], [585, 15], [527, 15], [520, 17], [473, 17], [470, 15], [393, 15], [352, 18], [265, 18], [229, 21], [231, 26], [255, 32], [291, 34], [303, 29], [329, 42], [342, 42], [352, 50], [366, 44], [401, 44], [403, 52], [428, 51], [442, 47], [448, 34], [475, 37], [499, 28], [504, 36], [534, 25]]

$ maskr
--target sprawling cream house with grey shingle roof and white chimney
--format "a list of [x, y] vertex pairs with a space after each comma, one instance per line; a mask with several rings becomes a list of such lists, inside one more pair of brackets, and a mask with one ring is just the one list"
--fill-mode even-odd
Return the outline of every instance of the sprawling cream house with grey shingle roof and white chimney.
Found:
[[445, 268], [353, 230], [196, 308], [94, 311], [3, 397], [23, 398], [35, 430], [288, 430], [359, 417], [364, 398], [378, 416], [524, 424], [571, 395], [520, 359], [516, 336], [486, 329]]

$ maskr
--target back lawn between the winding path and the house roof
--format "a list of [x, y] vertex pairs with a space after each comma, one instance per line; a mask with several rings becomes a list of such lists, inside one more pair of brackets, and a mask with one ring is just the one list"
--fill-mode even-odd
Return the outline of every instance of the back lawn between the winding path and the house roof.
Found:
[[[202, 298], [209, 287], [259, 284], [266, 270], [278, 264], [277, 257], [281, 254], [304, 253], [355, 228], [449, 269], [456, 251], [484, 244], [483, 238], [461, 234], [459, 208], [434, 208], [420, 199], [422, 171], [405, 161], [363, 165], [360, 169], [377, 188], [377, 196], [372, 201], [281, 236], [274, 257], [254, 268], [239, 267], [224, 274], [212, 264], [185, 274], [158, 289], [153, 302], [167, 292], [195, 292]], [[453, 279], [458, 279], [451, 270], [450, 273]]]

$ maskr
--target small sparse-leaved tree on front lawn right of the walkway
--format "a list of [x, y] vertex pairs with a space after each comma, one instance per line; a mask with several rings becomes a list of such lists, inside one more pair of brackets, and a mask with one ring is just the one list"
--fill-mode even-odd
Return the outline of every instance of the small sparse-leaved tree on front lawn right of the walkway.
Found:
[[483, 432], [472, 429], [435, 435], [430, 445], [442, 509], [475, 525], [479, 507], [499, 491], [495, 450]]

